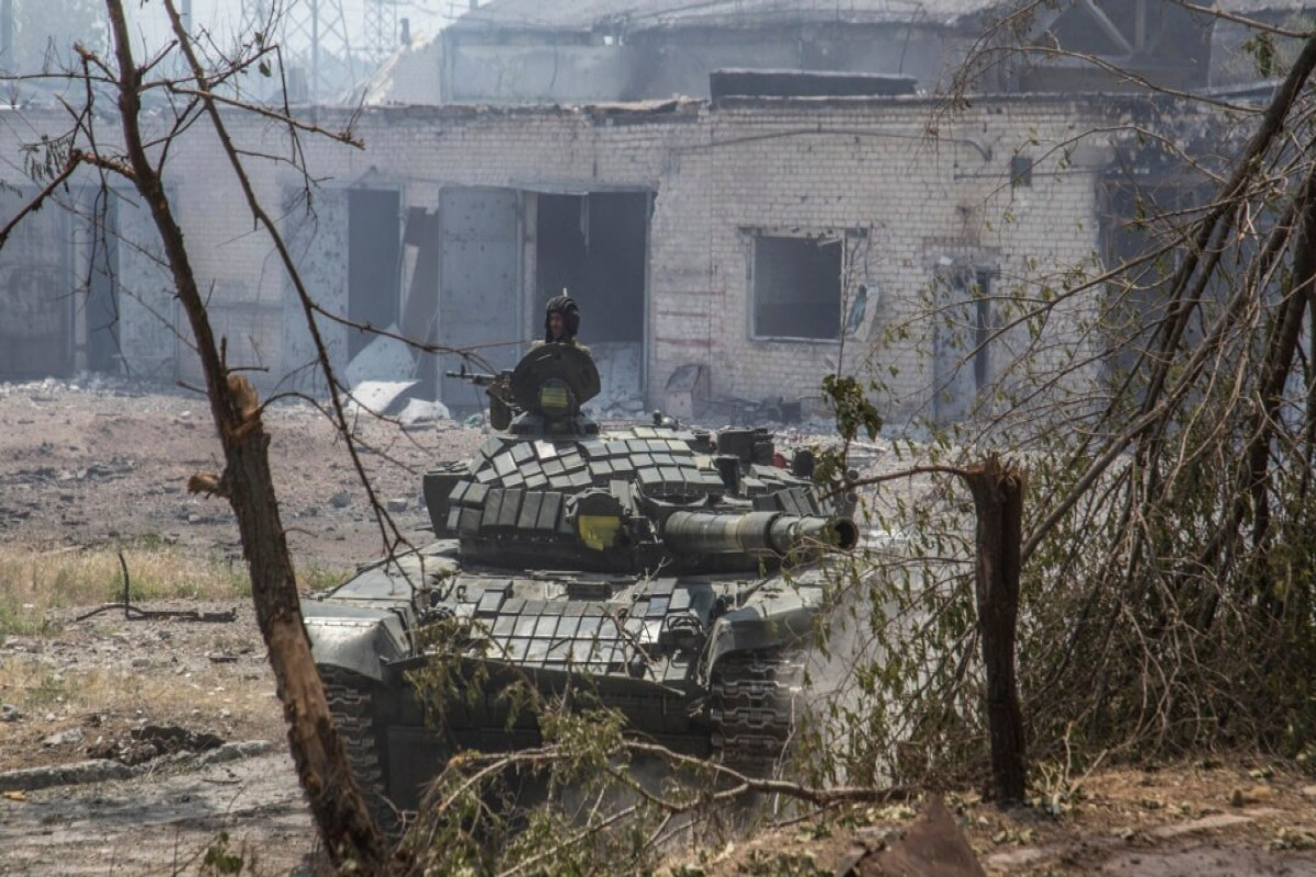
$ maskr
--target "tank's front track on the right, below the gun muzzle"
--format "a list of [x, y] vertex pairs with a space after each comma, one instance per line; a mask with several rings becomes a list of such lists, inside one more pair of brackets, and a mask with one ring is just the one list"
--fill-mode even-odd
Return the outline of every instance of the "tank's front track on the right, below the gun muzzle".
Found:
[[796, 730], [803, 678], [804, 655], [797, 650], [722, 657], [709, 680], [713, 755], [747, 776], [779, 773]]

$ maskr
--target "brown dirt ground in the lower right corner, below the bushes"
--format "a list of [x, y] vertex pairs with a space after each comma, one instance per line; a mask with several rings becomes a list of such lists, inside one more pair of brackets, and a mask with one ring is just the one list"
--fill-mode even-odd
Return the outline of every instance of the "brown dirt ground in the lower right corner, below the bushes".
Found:
[[[1244, 759], [1155, 769], [1112, 768], [1069, 786], [1061, 806], [1003, 813], [976, 795], [945, 798], [987, 874], [1061, 877], [1309, 877], [1316, 874], [1316, 785], [1312, 777]], [[970, 877], [967, 870], [883, 870], [845, 864], [896, 845], [924, 801], [859, 807], [824, 827], [803, 823], [682, 861], [703, 877], [848, 874]], [[954, 841], [941, 834], [923, 852]], [[876, 856], [869, 861], [875, 864]], [[945, 859], [942, 857], [944, 863]], [[924, 861], [923, 865], [929, 863]], [[672, 874], [690, 874], [674, 869]]]

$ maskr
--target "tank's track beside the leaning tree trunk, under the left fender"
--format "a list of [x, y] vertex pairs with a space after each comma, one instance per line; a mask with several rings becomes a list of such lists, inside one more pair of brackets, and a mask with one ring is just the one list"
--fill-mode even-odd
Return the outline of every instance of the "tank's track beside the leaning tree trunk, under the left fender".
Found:
[[401, 834], [403, 820], [388, 797], [386, 731], [376, 717], [374, 684], [341, 667], [318, 669], [329, 713], [338, 728], [357, 788], [366, 798], [366, 807], [375, 826], [388, 838], [396, 839]]

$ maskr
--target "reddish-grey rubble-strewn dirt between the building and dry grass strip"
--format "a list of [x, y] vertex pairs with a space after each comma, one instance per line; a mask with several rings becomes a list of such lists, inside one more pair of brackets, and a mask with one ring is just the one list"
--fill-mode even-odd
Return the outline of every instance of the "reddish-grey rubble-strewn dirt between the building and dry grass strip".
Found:
[[[271, 464], [295, 555], [351, 567], [383, 554], [383, 538], [346, 444], [309, 402], [266, 409]], [[421, 473], [461, 459], [482, 440], [453, 421], [401, 429], [362, 414], [353, 421], [362, 463], [397, 526], [422, 539]], [[220, 444], [207, 401], [186, 391], [130, 383], [0, 384], [0, 529], [38, 550], [107, 543], [128, 535], [241, 555], [221, 500], [190, 496], [187, 480], [218, 472]]]

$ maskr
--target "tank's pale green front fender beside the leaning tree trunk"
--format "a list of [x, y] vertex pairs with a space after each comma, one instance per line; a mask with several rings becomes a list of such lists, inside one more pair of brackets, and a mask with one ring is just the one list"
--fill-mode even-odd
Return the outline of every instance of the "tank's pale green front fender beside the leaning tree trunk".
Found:
[[411, 653], [396, 613], [315, 602], [303, 604], [301, 611], [317, 665], [341, 667], [383, 682], [384, 667]]

